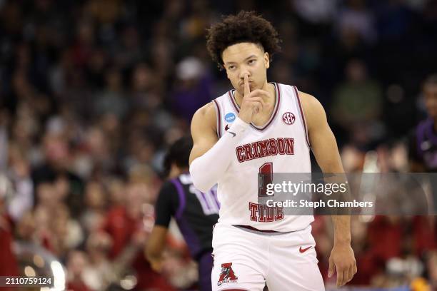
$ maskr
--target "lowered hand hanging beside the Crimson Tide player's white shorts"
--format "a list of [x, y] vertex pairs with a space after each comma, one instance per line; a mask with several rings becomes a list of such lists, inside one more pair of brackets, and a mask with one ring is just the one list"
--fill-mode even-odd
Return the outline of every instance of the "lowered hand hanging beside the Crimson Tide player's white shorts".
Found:
[[337, 286], [340, 287], [351, 281], [356, 271], [356, 260], [351, 244], [348, 242], [334, 244], [329, 257], [328, 277], [332, 277], [334, 272], [337, 272]]

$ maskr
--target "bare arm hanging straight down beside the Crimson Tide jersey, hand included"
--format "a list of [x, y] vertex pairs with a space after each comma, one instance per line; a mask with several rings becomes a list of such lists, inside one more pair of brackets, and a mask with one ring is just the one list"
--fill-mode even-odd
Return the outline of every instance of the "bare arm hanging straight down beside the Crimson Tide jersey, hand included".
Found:
[[[344, 173], [336, 138], [326, 119], [326, 113], [316, 98], [299, 93], [308, 126], [308, 138], [323, 173]], [[337, 285], [345, 285], [356, 274], [356, 260], [351, 248], [351, 218], [333, 215], [334, 245], [329, 257], [329, 277], [337, 272]]]

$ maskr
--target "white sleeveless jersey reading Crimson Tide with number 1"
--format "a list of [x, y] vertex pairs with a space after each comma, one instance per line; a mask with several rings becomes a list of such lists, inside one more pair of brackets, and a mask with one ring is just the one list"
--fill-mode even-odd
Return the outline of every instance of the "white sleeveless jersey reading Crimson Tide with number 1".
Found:
[[[308, 132], [295, 86], [274, 83], [276, 104], [264, 126], [251, 124], [236, 146], [231, 164], [218, 180], [218, 223], [258, 230], [302, 230], [312, 215], [283, 215], [282, 208], [258, 204], [258, 173], [311, 173]], [[234, 90], [216, 98], [218, 138], [231, 127], [239, 108]], [[220, 158], [220, 157], [217, 157]]]

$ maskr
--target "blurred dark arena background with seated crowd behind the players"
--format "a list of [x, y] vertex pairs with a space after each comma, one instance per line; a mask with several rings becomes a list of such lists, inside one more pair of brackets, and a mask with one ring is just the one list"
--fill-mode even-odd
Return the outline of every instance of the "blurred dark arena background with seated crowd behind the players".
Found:
[[[278, 29], [268, 79], [321, 101], [346, 171], [408, 172], [408, 136], [426, 118], [421, 83], [437, 72], [437, 1], [1, 0], [0, 275], [51, 274], [71, 290], [161, 276], [196, 290], [177, 231], [161, 275], [142, 250], [166, 148], [231, 86], [206, 28], [241, 9]], [[434, 218], [354, 216], [358, 274], [343, 290], [437, 288]], [[313, 235], [335, 290], [330, 218]]]

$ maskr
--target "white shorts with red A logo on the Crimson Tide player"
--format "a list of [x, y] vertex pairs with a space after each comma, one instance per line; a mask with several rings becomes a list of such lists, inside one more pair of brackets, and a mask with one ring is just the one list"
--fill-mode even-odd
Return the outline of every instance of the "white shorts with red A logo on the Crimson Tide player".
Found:
[[311, 225], [292, 233], [261, 233], [217, 223], [212, 290], [323, 291]]

